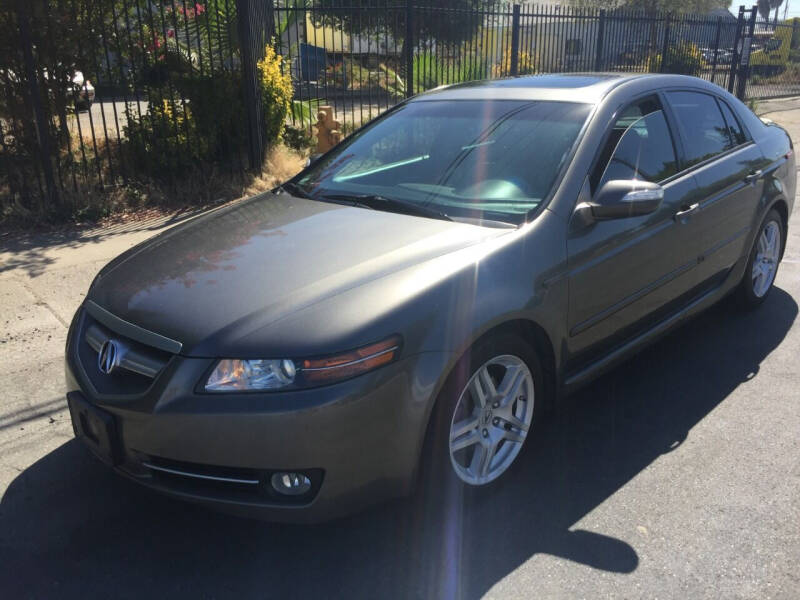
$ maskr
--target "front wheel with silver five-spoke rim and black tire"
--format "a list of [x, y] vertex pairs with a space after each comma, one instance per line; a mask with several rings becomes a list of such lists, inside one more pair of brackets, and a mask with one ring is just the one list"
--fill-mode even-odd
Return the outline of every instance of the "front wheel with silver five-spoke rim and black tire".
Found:
[[[479, 394], [468, 391], [468, 387], [477, 390], [476, 382], [480, 381], [480, 390], [486, 391], [483, 378], [487, 373], [498, 395], [490, 393], [491, 401], [480, 407], [474, 401]], [[510, 400], [501, 402], [499, 392], [506, 383], [504, 377], [513, 378], [515, 374], [521, 383], [508, 386], [512, 390], [516, 387], [516, 393], [508, 394], [506, 399]], [[494, 488], [519, 463], [526, 440], [545, 412], [545, 400], [541, 363], [529, 344], [511, 333], [479, 341], [458, 362], [436, 400], [420, 459], [423, 493], [439, 495], [457, 490], [459, 494], [482, 494]], [[468, 423], [468, 427], [459, 429], [459, 423]], [[451, 438], [455, 446], [469, 444], [452, 451]], [[475, 453], [483, 451], [490, 458], [486, 463], [484, 456], [483, 468], [478, 469]], [[488, 471], [484, 472], [487, 464]], [[475, 469], [471, 468], [473, 465]]]

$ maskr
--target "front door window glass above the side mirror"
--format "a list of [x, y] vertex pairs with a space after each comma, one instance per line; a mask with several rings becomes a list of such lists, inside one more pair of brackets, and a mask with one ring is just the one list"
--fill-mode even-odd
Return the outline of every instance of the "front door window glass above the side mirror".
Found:
[[615, 179], [659, 183], [677, 172], [675, 148], [661, 104], [656, 98], [647, 98], [617, 118], [590, 183], [595, 192]]

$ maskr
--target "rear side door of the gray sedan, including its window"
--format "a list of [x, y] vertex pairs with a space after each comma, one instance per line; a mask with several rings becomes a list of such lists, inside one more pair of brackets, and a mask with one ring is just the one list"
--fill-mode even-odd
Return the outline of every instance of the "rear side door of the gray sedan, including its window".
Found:
[[767, 161], [727, 103], [703, 92], [668, 91], [698, 197], [691, 223], [698, 285], [713, 285], [746, 253], [744, 244], [758, 210]]

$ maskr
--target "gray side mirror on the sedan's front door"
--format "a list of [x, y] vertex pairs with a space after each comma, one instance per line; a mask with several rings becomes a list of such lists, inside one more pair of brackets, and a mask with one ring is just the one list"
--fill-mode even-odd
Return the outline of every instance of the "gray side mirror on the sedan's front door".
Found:
[[657, 183], [617, 179], [603, 184], [592, 201], [582, 203], [578, 209], [591, 212], [597, 221], [625, 219], [654, 213], [663, 199], [664, 189]]

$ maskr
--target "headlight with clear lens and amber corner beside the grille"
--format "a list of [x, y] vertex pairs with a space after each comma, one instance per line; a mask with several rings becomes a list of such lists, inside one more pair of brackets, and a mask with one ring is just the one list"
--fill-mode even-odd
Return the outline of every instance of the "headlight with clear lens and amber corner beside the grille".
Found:
[[350, 379], [397, 358], [400, 336], [324, 358], [220, 360], [206, 381], [207, 392], [305, 388]]

